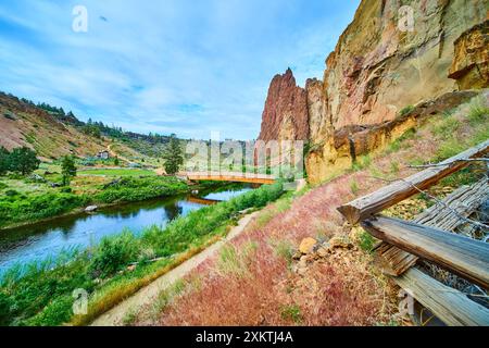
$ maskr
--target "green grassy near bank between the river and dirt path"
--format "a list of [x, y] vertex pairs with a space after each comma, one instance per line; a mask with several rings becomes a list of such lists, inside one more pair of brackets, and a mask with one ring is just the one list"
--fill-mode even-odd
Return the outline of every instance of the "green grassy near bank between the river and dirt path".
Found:
[[[65, 252], [40, 264], [18, 264], [0, 279], [0, 324], [86, 324], [224, 236], [239, 211], [262, 208], [281, 195], [281, 183], [264, 185], [229, 201], [192, 211], [164, 228], [148, 227], [137, 237], [127, 231], [104, 238], [92, 249]], [[240, 264], [253, 246], [244, 249], [235, 250]], [[147, 262], [149, 256], [161, 259]], [[237, 270], [233, 268], [233, 252], [225, 259], [229, 270]], [[138, 262], [137, 268], [129, 272], [127, 266], [134, 262]], [[90, 294], [85, 316], [72, 313], [72, 293], [79, 288]]]

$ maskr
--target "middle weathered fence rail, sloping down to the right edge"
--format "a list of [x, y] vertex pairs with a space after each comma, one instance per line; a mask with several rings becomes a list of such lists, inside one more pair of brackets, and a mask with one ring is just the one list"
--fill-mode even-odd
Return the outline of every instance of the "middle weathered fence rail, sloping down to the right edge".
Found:
[[489, 244], [398, 219], [362, 222], [374, 237], [489, 289]]

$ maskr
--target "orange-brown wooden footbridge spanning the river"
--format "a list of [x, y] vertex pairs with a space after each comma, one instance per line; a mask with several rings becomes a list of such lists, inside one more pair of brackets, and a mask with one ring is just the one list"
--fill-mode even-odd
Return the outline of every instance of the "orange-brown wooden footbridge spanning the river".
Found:
[[185, 172], [179, 173], [178, 177], [191, 182], [233, 182], [250, 184], [273, 184], [276, 178], [268, 174], [254, 174], [241, 172]]

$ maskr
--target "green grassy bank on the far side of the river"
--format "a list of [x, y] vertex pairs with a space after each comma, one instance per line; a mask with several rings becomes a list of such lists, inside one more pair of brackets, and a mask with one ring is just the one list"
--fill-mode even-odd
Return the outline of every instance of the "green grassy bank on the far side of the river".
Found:
[[161, 176], [77, 177], [70, 188], [51, 187], [29, 178], [3, 178], [0, 181], [0, 233], [80, 214], [87, 206], [115, 207], [221, 186], [225, 185], [200, 183], [189, 186], [176, 177]]

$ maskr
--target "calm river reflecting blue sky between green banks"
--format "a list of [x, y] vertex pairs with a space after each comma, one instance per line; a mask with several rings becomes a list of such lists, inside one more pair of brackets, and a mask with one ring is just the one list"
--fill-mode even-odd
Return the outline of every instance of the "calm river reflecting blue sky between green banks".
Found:
[[82, 213], [0, 231], [0, 274], [17, 262], [25, 264], [55, 257], [63, 249], [88, 247], [99, 243], [104, 236], [120, 234], [125, 228], [138, 234], [151, 225], [164, 226], [177, 216], [216, 200], [228, 200], [250, 189], [241, 187], [221, 189], [200, 197], [152, 199], [106, 207], [93, 214]]

